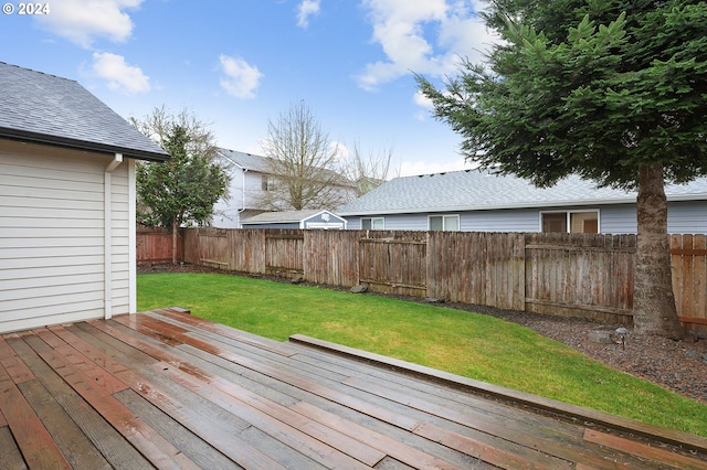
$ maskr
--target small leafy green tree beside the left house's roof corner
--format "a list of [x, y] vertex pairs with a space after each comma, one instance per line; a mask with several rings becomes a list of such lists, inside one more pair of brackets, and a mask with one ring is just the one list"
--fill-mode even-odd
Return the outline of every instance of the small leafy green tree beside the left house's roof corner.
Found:
[[[158, 115], [160, 109], [151, 118]], [[163, 163], [140, 163], [136, 171], [138, 222], [171, 229], [173, 264], [177, 263], [178, 228], [209, 222], [213, 205], [228, 196], [229, 184], [226, 172], [214, 162], [215, 146], [210, 143], [210, 135], [194, 125], [198, 120], [190, 121], [183, 119], [184, 116], [163, 120], [148, 118], [141, 122], [148, 130], [146, 133], [159, 136], [158, 142], [171, 159]], [[155, 126], [156, 122], [160, 126]]]

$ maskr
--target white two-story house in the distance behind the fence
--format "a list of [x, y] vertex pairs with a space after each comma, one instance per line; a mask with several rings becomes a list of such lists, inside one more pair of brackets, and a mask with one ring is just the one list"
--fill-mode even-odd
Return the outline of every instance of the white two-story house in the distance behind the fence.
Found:
[[[230, 199], [221, 200], [214, 205], [215, 215], [211, 225], [219, 228], [241, 228], [241, 222], [271, 211], [271, 207], [264, 206], [263, 201], [276, 182], [272, 170], [275, 167], [273, 160], [223, 148], [219, 149], [219, 158], [231, 175]], [[356, 196], [352, 184], [342, 185], [340, 191], [346, 200]]]

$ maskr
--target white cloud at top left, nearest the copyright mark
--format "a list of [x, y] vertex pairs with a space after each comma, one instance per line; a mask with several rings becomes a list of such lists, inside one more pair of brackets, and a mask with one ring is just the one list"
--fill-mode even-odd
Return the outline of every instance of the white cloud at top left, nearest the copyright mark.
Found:
[[133, 21], [124, 11], [144, 0], [61, 0], [51, 3], [51, 14], [34, 17], [41, 28], [89, 49], [97, 38], [126, 41]]

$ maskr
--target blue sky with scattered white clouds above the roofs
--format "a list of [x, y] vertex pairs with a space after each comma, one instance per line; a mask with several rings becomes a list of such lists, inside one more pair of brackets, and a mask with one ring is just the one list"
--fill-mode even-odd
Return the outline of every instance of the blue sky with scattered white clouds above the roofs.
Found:
[[75, 79], [126, 118], [189, 108], [220, 147], [258, 154], [268, 119], [304, 100], [342, 148], [392, 149], [400, 175], [451, 171], [468, 168], [461, 139], [412, 72], [481, 60], [477, 1], [50, 0], [42, 15], [11, 1], [0, 61]]

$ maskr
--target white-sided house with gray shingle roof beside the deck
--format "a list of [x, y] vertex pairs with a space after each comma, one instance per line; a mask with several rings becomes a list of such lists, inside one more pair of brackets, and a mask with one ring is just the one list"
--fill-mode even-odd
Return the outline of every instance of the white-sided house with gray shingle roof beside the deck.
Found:
[[135, 160], [169, 156], [74, 81], [0, 63], [0, 332], [135, 312]]

